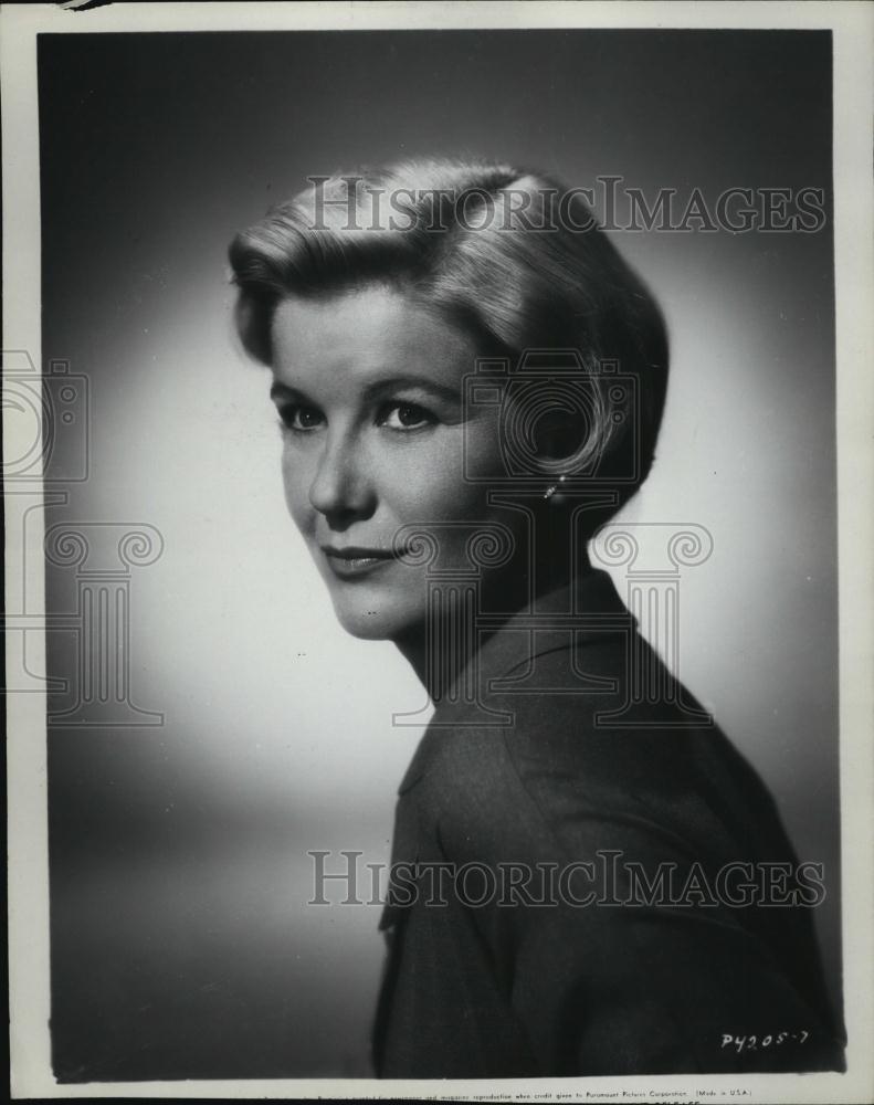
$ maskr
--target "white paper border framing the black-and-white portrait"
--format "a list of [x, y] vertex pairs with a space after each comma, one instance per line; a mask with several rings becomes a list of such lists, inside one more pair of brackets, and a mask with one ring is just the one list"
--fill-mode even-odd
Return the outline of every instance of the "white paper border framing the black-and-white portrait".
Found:
[[[841, 827], [843, 956], [847, 1073], [628, 1077], [625, 1090], [649, 1099], [684, 1091], [697, 1099], [740, 1096], [755, 1102], [870, 1102], [874, 1097], [874, 194], [868, 3], [168, 3], [115, 4], [87, 12], [49, 4], [0, 11], [3, 138], [3, 347], [27, 349], [41, 364], [39, 118], [36, 35], [141, 31], [268, 31], [296, 29], [830, 29], [834, 46], [834, 230], [836, 305], [836, 431], [840, 580]], [[6, 456], [32, 431], [4, 404]], [[41, 559], [42, 534], [6, 499], [7, 609], [18, 609], [23, 561]], [[36, 527], [39, 529], [40, 527]], [[39, 599], [40, 597], [36, 596]], [[33, 660], [41, 663], [42, 645]], [[609, 1099], [614, 1078], [480, 1082], [370, 1080], [241, 1080], [59, 1084], [49, 1035], [49, 883], [45, 699], [8, 695], [9, 965], [11, 1091], [32, 1097], [221, 1097], [539, 1099], [557, 1093]], [[734, 1091], [734, 1093], [731, 1093]]]

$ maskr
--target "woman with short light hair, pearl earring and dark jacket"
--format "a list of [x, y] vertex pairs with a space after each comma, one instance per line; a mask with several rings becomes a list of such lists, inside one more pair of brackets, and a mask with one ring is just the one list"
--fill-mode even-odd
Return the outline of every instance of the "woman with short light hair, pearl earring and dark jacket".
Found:
[[586, 556], [649, 472], [667, 344], [579, 191], [450, 161], [314, 178], [231, 263], [337, 617], [435, 704], [377, 1072], [842, 1069], [817, 887]]

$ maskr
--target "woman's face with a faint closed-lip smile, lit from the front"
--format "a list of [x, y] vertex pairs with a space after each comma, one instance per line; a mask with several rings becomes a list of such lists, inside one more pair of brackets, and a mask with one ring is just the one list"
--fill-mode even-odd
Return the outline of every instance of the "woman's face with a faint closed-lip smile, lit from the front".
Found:
[[462, 330], [383, 287], [289, 297], [273, 323], [272, 397], [292, 517], [356, 636], [425, 623], [427, 568], [391, 555], [401, 526], [435, 526], [441, 567], [465, 567], [476, 525], [508, 523], [466, 472], [504, 472], [495, 408], [465, 411], [476, 350]]

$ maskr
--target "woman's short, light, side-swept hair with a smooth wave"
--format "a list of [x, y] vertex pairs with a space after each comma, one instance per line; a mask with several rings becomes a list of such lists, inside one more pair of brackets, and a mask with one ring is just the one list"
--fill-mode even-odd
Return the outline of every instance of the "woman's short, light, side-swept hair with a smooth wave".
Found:
[[[531, 350], [541, 361], [545, 351], [575, 350], [591, 411], [575, 465], [615, 477], [612, 514], [652, 464], [667, 336], [581, 191], [507, 165], [449, 159], [310, 177], [231, 244], [243, 347], [270, 366], [283, 298], [379, 284], [466, 329], [482, 356], [513, 368]], [[618, 388], [615, 373], [633, 388]]]

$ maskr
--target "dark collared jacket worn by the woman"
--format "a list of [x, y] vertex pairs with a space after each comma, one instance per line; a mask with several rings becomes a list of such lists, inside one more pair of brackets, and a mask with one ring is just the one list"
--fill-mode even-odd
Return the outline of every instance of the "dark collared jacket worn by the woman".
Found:
[[[817, 880], [770, 794], [606, 573], [576, 601], [572, 632], [486, 641], [477, 699], [438, 704], [401, 783], [377, 1073], [843, 1070]], [[762, 880], [796, 904], [750, 904]]]

